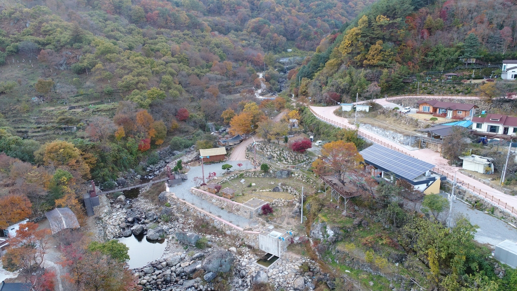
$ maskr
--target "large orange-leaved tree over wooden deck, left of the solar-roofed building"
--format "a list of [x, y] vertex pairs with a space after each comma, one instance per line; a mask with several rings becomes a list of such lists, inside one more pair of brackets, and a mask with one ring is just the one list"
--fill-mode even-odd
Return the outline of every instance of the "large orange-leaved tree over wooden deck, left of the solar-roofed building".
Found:
[[343, 178], [347, 171], [360, 168], [359, 163], [364, 162], [355, 144], [342, 140], [324, 144], [321, 156], [326, 166], [337, 173], [337, 178], [341, 182], [344, 182]]

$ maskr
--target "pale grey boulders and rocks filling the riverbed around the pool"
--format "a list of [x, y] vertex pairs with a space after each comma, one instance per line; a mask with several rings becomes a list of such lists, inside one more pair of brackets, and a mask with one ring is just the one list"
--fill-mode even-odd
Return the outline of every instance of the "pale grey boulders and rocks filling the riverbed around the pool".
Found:
[[[262, 267], [255, 263], [260, 252], [243, 245], [238, 235], [222, 231], [207, 236], [195, 233], [195, 217], [174, 201], [170, 207], [162, 207], [162, 211], [143, 198], [120, 196], [111, 202], [111, 211], [100, 217], [105, 238], [131, 235], [168, 238], [160, 259], [133, 270], [144, 290], [214, 290], [214, 284], [221, 283], [223, 273], [232, 290], [249, 290], [259, 283], [293, 291], [315, 288], [313, 280], [320, 270], [314, 261], [284, 255], [271, 267]], [[195, 246], [201, 238], [207, 249]]]

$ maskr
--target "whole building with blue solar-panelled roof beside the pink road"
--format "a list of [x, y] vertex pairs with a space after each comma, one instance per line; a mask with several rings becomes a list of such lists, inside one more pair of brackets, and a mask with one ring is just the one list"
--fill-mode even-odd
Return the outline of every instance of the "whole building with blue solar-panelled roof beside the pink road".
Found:
[[388, 149], [380, 144], [359, 152], [364, 158], [366, 170], [374, 178], [395, 182], [403, 179], [424, 194], [439, 193], [440, 181], [446, 178], [432, 172], [433, 164], [421, 161], [398, 151]]

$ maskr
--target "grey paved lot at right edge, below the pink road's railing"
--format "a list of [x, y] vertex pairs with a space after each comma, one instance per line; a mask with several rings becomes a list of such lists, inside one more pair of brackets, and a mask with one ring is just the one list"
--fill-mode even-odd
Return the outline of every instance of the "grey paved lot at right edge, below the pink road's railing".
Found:
[[[447, 198], [446, 193], [442, 193], [442, 196]], [[452, 202], [452, 217], [457, 217], [460, 213], [467, 217], [470, 223], [479, 226], [474, 235], [477, 242], [488, 243], [492, 246], [506, 239], [517, 242], [517, 229], [515, 227], [456, 199]]]

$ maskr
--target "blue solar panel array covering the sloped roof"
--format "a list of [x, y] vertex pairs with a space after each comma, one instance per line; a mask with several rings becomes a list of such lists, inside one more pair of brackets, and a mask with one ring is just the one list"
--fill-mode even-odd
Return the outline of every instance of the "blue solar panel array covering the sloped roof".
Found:
[[364, 162], [375, 164], [408, 180], [413, 180], [434, 168], [433, 164], [388, 149], [380, 144], [373, 144], [373, 146], [362, 150], [360, 154], [364, 158]]

